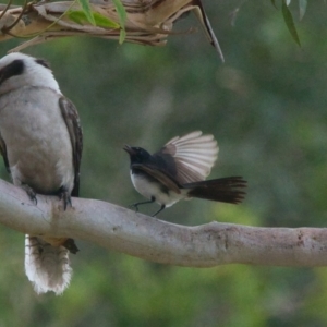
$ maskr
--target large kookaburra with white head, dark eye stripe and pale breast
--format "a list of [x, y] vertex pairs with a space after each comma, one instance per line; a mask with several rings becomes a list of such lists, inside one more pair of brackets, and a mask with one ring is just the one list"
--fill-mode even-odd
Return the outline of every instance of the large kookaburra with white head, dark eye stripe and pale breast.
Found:
[[[0, 59], [0, 152], [12, 181], [36, 194], [58, 195], [63, 207], [78, 196], [82, 129], [47, 62], [23, 53]], [[72, 239], [26, 235], [25, 272], [37, 293], [61, 294], [72, 269]]]

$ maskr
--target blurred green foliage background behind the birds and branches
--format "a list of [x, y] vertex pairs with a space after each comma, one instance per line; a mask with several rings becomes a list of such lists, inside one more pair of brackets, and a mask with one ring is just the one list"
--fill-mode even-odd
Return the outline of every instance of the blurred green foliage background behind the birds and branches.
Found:
[[[78, 108], [85, 137], [82, 197], [121, 206], [141, 199], [123, 145], [155, 152], [172, 136], [202, 130], [220, 146], [210, 177], [243, 175], [246, 201], [232, 206], [193, 199], [167, 209], [161, 219], [325, 227], [326, 4], [312, 1], [301, 22], [291, 5], [302, 48], [269, 1], [204, 4], [225, 64], [201, 31], [171, 36], [164, 48], [66, 38], [25, 51], [51, 63], [62, 92]], [[190, 15], [175, 31], [194, 25], [199, 27]], [[2, 44], [0, 55], [15, 45]], [[3, 167], [1, 178], [9, 180]], [[77, 243], [82, 251], [72, 256], [70, 288], [62, 296], [39, 296], [24, 276], [24, 235], [0, 228], [0, 326], [327, 324], [325, 268], [181, 268]]]

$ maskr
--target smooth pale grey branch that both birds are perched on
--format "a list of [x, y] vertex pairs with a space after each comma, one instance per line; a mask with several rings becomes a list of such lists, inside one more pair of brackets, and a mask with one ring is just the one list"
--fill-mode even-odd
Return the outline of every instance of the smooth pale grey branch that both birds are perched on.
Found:
[[35, 206], [23, 190], [1, 180], [0, 222], [23, 233], [70, 237], [178, 266], [327, 265], [325, 228], [185, 227], [85, 198], [73, 198], [73, 207], [63, 211], [58, 197], [37, 195]]

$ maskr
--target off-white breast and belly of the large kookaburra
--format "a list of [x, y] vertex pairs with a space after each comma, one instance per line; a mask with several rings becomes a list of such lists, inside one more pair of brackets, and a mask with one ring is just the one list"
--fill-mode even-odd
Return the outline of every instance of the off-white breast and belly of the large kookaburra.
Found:
[[0, 98], [0, 133], [16, 185], [51, 194], [62, 185], [73, 189], [70, 135], [59, 108], [60, 94], [22, 87]]

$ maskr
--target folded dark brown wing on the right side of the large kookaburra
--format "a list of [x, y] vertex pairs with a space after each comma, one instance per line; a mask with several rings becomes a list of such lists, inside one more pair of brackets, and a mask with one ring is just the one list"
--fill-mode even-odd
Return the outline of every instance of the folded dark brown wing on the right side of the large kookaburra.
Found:
[[59, 107], [61, 114], [66, 124], [73, 148], [73, 165], [75, 172], [74, 189], [72, 191], [72, 196], [78, 196], [80, 191], [80, 166], [83, 149], [83, 133], [80, 124], [78, 112], [68, 98], [61, 97], [59, 99]]

